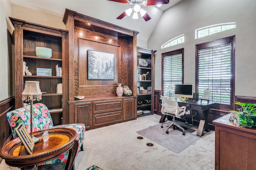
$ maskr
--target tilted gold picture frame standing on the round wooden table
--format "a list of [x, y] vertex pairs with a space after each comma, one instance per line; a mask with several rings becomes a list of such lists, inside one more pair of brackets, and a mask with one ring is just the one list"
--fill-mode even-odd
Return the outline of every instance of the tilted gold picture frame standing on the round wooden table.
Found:
[[34, 147], [35, 147], [35, 143], [32, 141], [32, 138], [28, 134], [28, 131], [27, 131], [26, 127], [22, 123], [20, 123], [15, 128], [15, 131], [16, 131], [18, 137], [20, 138], [20, 141], [22, 142], [22, 144], [26, 148], [26, 151], [29, 154], [32, 154], [33, 150], [34, 150]]

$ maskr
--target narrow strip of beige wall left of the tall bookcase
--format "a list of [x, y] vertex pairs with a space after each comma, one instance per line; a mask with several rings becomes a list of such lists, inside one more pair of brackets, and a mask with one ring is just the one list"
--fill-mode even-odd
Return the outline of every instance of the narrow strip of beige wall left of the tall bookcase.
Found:
[[12, 75], [12, 23], [10, 0], [0, 0], [0, 101], [14, 95]]

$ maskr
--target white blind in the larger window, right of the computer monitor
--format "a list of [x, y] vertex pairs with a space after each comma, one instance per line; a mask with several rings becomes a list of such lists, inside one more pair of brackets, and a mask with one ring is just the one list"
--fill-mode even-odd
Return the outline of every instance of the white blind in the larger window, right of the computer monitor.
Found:
[[231, 44], [198, 50], [198, 98], [211, 90], [209, 100], [230, 105]]

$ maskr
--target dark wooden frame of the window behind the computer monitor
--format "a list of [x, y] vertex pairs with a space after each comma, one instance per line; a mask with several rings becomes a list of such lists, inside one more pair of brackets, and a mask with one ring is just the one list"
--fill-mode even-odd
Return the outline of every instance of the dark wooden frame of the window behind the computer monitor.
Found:
[[184, 48], [182, 49], [177, 49], [177, 50], [173, 50], [173, 51], [168, 51], [166, 53], [162, 53], [162, 81], [161, 81], [161, 93], [162, 95], [164, 94], [164, 63], [163, 63], [163, 59], [164, 57], [170, 56], [170, 55], [177, 55], [177, 54], [182, 54], [182, 84], [184, 84]]

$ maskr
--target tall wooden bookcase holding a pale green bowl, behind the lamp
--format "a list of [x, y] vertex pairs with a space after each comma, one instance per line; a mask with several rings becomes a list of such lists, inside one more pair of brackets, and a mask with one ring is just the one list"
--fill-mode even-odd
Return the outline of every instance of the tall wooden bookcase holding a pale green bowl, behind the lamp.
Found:
[[[26, 81], [39, 81], [42, 100], [52, 115], [54, 125], [68, 123], [68, 31], [47, 27], [35, 23], [10, 18], [14, 25], [15, 47], [15, 107], [24, 106], [22, 92]], [[52, 57], [36, 56], [36, 47], [52, 49]], [[32, 76], [24, 74], [23, 63], [26, 62]], [[62, 76], [56, 75], [55, 66], [62, 67]], [[37, 68], [52, 69], [52, 76], [37, 76]], [[62, 93], [57, 94], [57, 84], [62, 83]], [[38, 101], [35, 101], [36, 103]]]

